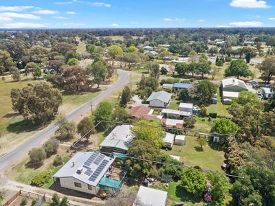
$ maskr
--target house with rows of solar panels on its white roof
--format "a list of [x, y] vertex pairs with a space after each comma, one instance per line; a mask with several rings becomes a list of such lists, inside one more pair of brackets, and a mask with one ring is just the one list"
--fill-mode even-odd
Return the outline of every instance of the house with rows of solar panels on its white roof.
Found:
[[114, 160], [100, 152], [78, 152], [53, 177], [61, 187], [96, 195], [98, 183]]

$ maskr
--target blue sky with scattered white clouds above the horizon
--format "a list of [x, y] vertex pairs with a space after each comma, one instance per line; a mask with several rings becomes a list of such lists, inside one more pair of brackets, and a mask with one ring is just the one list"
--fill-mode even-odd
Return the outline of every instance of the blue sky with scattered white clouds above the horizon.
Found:
[[0, 0], [0, 28], [275, 27], [274, 0]]

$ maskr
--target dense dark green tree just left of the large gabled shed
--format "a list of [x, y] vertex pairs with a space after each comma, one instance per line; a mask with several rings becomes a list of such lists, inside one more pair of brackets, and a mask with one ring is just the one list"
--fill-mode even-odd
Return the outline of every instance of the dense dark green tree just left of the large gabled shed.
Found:
[[197, 86], [197, 96], [199, 97], [200, 102], [203, 103], [210, 102], [216, 92], [216, 87], [209, 80], [202, 80]]

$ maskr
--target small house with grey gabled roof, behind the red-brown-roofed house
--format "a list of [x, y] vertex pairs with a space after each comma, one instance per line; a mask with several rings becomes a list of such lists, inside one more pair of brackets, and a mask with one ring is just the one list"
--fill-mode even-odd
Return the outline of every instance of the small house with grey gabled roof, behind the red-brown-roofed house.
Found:
[[147, 99], [147, 102], [149, 103], [149, 106], [152, 106], [152, 107], [166, 108], [171, 98], [172, 98], [172, 94], [166, 91], [157, 91], [157, 92], [153, 92], [150, 95], [150, 97]]

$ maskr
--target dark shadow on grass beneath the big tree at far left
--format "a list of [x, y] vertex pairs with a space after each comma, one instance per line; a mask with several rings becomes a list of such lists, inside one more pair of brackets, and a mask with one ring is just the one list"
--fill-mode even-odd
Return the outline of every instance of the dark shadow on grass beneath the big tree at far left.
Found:
[[41, 127], [39, 124], [34, 124], [30, 119], [23, 119], [19, 122], [14, 122], [7, 126], [7, 130], [10, 133], [24, 133], [24, 132], [32, 132]]

